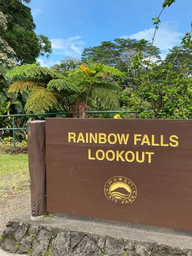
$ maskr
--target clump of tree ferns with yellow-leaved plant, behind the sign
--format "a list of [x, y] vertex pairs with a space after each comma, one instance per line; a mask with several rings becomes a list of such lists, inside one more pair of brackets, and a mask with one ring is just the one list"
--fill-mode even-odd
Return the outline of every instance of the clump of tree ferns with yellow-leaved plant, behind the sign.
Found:
[[[10, 86], [9, 93], [29, 90], [25, 105], [27, 113], [44, 113], [56, 107], [59, 111], [84, 110], [100, 104], [102, 108], [118, 109], [116, 92], [121, 89], [118, 83], [106, 78], [122, 76], [122, 72], [101, 63], [88, 61], [88, 66], [69, 73], [66, 77], [55, 69], [43, 68], [35, 64], [16, 67], [6, 74], [6, 79], [17, 79]], [[22, 79], [21, 79], [22, 78]], [[80, 111], [81, 112], [81, 111]], [[85, 112], [85, 111], [84, 111]], [[85, 114], [82, 114], [85, 116]]]

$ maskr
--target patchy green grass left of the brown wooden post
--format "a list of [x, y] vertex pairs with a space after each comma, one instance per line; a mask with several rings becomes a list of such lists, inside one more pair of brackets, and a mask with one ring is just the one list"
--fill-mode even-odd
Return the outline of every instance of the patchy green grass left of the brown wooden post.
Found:
[[0, 155], [0, 201], [22, 192], [29, 192], [28, 155]]

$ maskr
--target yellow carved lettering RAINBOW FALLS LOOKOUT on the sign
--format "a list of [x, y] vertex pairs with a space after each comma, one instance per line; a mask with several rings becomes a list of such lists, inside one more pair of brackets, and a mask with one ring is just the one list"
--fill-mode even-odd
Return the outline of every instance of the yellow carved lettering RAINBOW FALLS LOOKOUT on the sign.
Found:
[[[132, 138], [131, 138], [132, 136]], [[130, 140], [131, 138], [131, 140]], [[129, 133], [74, 133], [68, 132], [68, 142], [70, 143], [88, 143], [88, 144], [119, 144], [131, 145], [130, 141], [134, 142], [136, 146], [156, 146], [156, 147], [177, 147], [179, 145], [179, 138], [177, 135], [170, 135], [169, 139], [165, 140], [164, 135], [155, 136], [154, 134], [129, 134]], [[151, 147], [150, 147], [151, 149]], [[112, 149], [98, 149], [95, 153], [88, 148], [89, 160], [104, 160], [108, 161], [127, 161], [143, 163], [147, 161], [152, 162], [154, 151], [132, 151], [132, 150], [112, 150]]]

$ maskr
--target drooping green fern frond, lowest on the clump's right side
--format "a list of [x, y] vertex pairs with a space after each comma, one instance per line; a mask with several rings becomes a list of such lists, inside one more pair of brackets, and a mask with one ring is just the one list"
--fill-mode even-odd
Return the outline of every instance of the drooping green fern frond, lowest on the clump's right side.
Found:
[[117, 95], [109, 89], [96, 87], [92, 91], [91, 97], [98, 99], [98, 101], [101, 101], [102, 107], [106, 109], [115, 110], [120, 108]]

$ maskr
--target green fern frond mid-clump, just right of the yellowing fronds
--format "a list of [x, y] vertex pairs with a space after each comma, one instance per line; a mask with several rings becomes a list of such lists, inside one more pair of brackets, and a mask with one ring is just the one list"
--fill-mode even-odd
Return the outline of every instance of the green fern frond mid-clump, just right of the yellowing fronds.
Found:
[[68, 78], [64, 79], [53, 79], [47, 84], [47, 90], [56, 89], [60, 91], [66, 91], [67, 93], [79, 92], [79, 87], [74, 83], [70, 82]]

